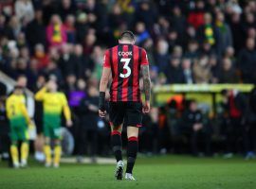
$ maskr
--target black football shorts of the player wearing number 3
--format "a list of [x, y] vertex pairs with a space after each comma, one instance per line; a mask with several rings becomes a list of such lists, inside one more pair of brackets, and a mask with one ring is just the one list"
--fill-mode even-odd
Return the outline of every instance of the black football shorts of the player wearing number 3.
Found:
[[109, 119], [114, 126], [141, 127], [141, 102], [109, 102]]

